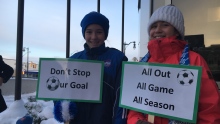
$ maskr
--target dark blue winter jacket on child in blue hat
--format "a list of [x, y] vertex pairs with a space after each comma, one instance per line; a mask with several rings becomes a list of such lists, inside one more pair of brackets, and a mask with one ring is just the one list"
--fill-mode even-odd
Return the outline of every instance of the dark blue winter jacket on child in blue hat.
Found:
[[124, 109], [118, 107], [122, 61], [127, 57], [114, 48], [105, 47], [84, 50], [71, 56], [74, 59], [104, 61], [102, 103], [76, 102], [77, 114], [70, 124], [126, 124]]

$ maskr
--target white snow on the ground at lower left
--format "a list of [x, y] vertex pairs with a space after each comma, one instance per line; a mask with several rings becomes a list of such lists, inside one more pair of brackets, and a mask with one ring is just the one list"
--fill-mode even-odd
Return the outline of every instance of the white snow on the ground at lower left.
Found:
[[[16, 121], [19, 118], [22, 118], [27, 114], [27, 109], [24, 107], [24, 104], [28, 102], [28, 97], [35, 95], [36, 92], [30, 94], [22, 94], [21, 100], [16, 101], [14, 101], [14, 95], [3, 96], [8, 108], [0, 113], [0, 124], [16, 124]], [[43, 100], [37, 100], [37, 102], [43, 107], [42, 112], [38, 115], [48, 118], [47, 120], [42, 121], [41, 124], [63, 124], [54, 119], [53, 101], [45, 102]]]

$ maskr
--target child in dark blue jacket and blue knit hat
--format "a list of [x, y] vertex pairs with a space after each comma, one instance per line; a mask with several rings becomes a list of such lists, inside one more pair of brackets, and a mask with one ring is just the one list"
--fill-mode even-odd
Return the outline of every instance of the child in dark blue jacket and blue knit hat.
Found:
[[104, 61], [102, 103], [75, 102], [77, 113], [70, 124], [126, 124], [126, 109], [118, 104], [122, 61], [128, 59], [121, 51], [105, 46], [109, 20], [104, 15], [90, 12], [80, 25], [86, 41], [84, 50], [70, 58]]

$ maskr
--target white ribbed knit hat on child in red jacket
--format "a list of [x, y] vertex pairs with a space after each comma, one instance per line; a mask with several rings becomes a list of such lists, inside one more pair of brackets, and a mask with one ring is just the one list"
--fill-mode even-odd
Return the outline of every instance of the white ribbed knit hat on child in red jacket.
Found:
[[157, 21], [165, 21], [170, 23], [180, 33], [181, 39], [184, 38], [184, 18], [183, 14], [177, 7], [173, 5], [166, 5], [158, 8], [150, 17], [148, 23], [148, 34], [150, 34], [151, 25]]

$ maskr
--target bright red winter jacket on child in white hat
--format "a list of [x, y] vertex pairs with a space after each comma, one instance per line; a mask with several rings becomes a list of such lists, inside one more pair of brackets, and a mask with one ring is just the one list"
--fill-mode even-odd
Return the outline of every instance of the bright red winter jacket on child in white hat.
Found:
[[[150, 58], [148, 62], [179, 64], [185, 41], [175, 37], [151, 40], [148, 43]], [[199, 54], [189, 51], [191, 66], [202, 66], [202, 79], [197, 114], [197, 124], [220, 124], [220, 97], [216, 82], [208, 68], [207, 63]], [[148, 115], [136, 111], [129, 111], [128, 124], [136, 124], [138, 120], [147, 121]], [[154, 118], [154, 124], [168, 124], [169, 119]]]

